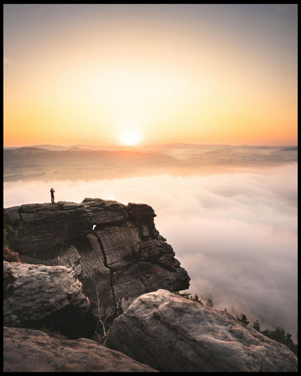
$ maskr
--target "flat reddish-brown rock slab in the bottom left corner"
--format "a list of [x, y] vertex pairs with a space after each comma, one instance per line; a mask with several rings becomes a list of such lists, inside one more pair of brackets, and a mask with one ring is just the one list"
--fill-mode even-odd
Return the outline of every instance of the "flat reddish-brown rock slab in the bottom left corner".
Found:
[[4, 372], [156, 372], [85, 338], [50, 337], [40, 330], [3, 328]]

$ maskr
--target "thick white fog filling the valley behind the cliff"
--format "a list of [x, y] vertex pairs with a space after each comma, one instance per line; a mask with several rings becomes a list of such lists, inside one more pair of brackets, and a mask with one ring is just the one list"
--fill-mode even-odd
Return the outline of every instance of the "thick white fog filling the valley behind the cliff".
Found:
[[191, 280], [214, 308], [246, 314], [297, 340], [297, 163], [227, 172], [111, 180], [7, 181], [4, 207], [85, 197], [146, 203]]

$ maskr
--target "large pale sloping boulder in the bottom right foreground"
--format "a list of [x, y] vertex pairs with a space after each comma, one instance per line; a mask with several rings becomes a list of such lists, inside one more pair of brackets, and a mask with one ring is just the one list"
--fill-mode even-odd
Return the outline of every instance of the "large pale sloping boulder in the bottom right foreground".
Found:
[[106, 345], [162, 372], [297, 372], [285, 345], [165, 290], [134, 300]]

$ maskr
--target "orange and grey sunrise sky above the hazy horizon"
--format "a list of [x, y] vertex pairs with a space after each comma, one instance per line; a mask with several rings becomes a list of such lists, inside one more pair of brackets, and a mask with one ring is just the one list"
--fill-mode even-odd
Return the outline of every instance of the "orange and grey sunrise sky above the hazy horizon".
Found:
[[297, 4], [4, 4], [3, 146], [297, 144]]

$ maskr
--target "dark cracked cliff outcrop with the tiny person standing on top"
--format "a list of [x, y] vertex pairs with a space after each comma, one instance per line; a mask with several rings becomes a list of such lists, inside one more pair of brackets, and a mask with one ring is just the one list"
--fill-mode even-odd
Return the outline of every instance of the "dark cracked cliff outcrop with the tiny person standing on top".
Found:
[[141, 294], [189, 286], [186, 270], [155, 229], [155, 213], [146, 204], [85, 199], [24, 204], [6, 212], [23, 226], [12, 244], [22, 262], [71, 266], [92, 312], [102, 319], [122, 313]]

